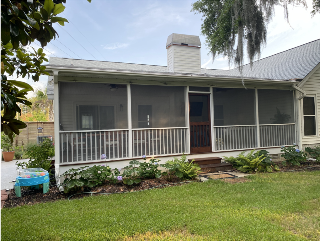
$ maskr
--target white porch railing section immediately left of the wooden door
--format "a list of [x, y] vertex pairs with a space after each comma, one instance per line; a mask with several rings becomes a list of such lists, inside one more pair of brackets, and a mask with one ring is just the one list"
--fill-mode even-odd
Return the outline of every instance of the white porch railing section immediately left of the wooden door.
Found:
[[188, 128], [150, 128], [132, 130], [132, 155], [166, 155], [187, 152]]

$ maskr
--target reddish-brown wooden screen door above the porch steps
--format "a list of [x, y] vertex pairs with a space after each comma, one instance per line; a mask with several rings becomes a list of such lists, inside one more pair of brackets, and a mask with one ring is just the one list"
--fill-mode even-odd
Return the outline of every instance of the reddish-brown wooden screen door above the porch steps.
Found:
[[211, 152], [210, 96], [189, 94], [190, 151]]

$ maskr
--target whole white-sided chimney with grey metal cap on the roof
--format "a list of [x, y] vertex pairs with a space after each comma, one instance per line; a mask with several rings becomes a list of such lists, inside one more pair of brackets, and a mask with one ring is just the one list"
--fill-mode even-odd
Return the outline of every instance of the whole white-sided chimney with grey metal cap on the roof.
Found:
[[168, 72], [201, 74], [199, 36], [171, 34], [167, 40]]

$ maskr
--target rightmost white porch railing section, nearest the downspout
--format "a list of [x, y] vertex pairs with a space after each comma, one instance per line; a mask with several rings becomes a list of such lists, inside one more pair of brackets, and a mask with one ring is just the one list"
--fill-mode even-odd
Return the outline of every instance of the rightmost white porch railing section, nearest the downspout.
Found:
[[294, 124], [259, 125], [261, 147], [292, 145], [295, 142]]

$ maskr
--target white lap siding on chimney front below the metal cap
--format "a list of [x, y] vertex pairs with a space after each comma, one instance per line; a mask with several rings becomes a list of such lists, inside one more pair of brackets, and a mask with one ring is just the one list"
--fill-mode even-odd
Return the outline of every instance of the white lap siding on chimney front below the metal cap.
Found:
[[173, 45], [172, 50], [173, 72], [201, 74], [200, 48]]

